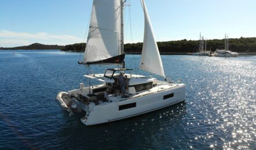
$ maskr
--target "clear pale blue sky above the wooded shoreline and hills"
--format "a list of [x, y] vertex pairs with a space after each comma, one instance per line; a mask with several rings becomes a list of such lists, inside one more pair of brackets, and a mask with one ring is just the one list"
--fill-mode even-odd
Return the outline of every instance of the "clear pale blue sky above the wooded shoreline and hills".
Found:
[[[93, 0], [1, 0], [0, 47], [82, 43], [87, 38], [92, 3]], [[229, 38], [256, 37], [255, 0], [145, 3], [158, 42], [198, 40], [200, 32], [207, 39], [223, 39], [225, 33]], [[125, 43], [142, 42], [144, 14], [140, 0], [127, 0], [126, 4]]]

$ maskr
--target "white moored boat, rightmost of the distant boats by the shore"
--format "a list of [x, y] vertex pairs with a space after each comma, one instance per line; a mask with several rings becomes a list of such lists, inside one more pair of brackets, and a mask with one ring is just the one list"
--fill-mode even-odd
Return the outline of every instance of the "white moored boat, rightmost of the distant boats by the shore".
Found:
[[239, 54], [237, 52], [232, 52], [229, 50], [229, 39], [228, 35], [225, 34], [225, 48], [223, 50], [216, 50], [213, 54], [215, 57], [237, 57]]

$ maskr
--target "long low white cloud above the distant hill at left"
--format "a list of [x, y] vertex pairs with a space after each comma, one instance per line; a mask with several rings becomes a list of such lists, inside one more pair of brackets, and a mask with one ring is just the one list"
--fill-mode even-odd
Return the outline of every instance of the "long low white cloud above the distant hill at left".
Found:
[[82, 43], [80, 39], [71, 35], [52, 35], [50, 33], [25, 33], [0, 30], [0, 47], [25, 46], [32, 43], [67, 45]]

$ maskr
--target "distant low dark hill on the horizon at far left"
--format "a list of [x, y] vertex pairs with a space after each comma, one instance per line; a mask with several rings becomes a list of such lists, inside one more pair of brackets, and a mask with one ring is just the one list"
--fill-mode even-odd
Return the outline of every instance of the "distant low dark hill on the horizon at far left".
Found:
[[64, 46], [34, 43], [29, 46], [0, 47], [0, 50], [61, 50]]

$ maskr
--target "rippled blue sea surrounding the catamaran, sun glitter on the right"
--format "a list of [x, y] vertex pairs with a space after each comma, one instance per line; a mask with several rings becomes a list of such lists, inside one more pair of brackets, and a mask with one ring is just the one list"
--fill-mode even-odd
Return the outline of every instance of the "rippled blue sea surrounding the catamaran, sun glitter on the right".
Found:
[[[0, 51], [0, 149], [256, 149], [255, 56], [164, 55], [167, 76], [186, 84], [186, 102], [97, 126], [70, 118], [55, 100], [86, 82], [79, 57]], [[139, 61], [126, 56], [127, 67]]]

